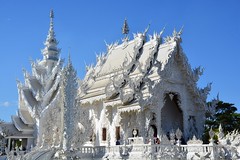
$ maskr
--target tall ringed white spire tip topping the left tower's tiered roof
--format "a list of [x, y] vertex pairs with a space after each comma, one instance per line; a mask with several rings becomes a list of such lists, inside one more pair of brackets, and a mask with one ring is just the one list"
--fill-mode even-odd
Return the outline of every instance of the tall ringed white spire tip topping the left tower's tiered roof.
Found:
[[58, 61], [60, 49], [57, 48], [58, 41], [55, 38], [54, 26], [53, 26], [54, 13], [50, 11], [50, 28], [48, 31], [47, 39], [44, 43], [45, 48], [42, 50], [42, 54], [45, 60]]

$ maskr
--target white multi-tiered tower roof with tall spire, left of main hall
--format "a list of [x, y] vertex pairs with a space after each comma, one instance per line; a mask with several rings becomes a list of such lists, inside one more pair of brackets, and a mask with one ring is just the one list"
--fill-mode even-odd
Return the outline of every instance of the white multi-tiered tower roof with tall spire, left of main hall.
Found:
[[43, 59], [31, 62], [32, 73], [23, 70], [25, 81], [17, 82], [19, 108], [18, 115], [12, 116], [12, 122], [19, 135], [27, 134], [28, 137], [33, 137], [34, 130], [39, 127], [41, 114], [48, 106], [56, 103], [56, 97], [60, 94], [62, 61], [59, 59], [60, 49], [57, 47], [53, 18], [51, 11], [50, 28], [44, 43], [45, 48], [42, 50]]

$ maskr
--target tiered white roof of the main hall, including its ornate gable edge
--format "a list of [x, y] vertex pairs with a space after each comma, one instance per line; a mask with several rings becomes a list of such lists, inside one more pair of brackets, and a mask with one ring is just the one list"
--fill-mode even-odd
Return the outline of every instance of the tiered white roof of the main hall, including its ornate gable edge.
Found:
[[163, 43], [163, 31], [149, 36], [148, 41], [146, 32], [134, 34], [130, 41], [125, 37], [121, 44], [107, 45], [106, 55], [97, 57], [96, 66], [87, 67], [80, 93], [82, 103], [115, 99], [122, 104], [129, 104], [136, 99], [136, 92], [142, 92], [142, 96], [146, 97], [149, 90], [142, 85], [147, 81], [153, 85], [160, 79], [166, 79], [172, 62], [179, 65], [182, 72], [180, 76], [189, 82], [186, 86], [192, 94], [199, 99], [206, 97], [203, 95], [208, 94], [210, 86], [197, 88], [196, 82], [202, 69], [192, 69], [188, 63], [180, 45], [182, 29], [179, 32], [174, 30], [172, 36], [164, 38]]

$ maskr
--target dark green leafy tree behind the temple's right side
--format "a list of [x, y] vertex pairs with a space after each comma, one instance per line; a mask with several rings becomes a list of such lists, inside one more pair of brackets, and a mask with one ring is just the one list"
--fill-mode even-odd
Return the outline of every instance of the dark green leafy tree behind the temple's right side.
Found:
[[[233, 130], [240, 130], [240, 114], [237, 113], [237, 108], [232, 103], [218, 101], [212, 106], [213, 102], [208, 102], [208, 106], [214, 107], [215, 112], [208, 110], [206, 112], [205, 131], [203, 134], [203, 142], [209, 142], [209, 130], [212, 127], [213, 131], [218, 132], [219, 125], [222, 125], [224, 134]], [[214, 137], [215, 140], [217, 137]]]

